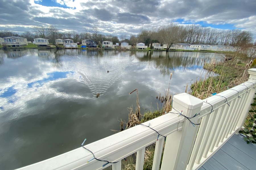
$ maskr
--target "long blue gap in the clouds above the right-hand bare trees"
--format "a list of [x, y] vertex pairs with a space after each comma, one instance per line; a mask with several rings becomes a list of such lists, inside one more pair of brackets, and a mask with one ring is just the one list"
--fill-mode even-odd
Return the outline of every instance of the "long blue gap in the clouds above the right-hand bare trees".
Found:
[[199, 24], [202, 26], [212, 27], [212, 28], [218, 28], [218, 29], [242, 29], [242, 28], [236, 28], [234, 24], [208, 24], [204, 21], [199, 22], [191, 22], [191, 21], [184, 21], [184, 19], [177, 19], [175, 22], [178, 22], [180, 24]]

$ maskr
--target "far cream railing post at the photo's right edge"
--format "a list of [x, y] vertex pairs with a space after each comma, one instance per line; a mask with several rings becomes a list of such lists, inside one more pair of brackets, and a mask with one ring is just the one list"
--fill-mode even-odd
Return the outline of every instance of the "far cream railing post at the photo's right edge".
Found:
[[[253, 78], [253, 79], [256, 80], [256, 69], [249, 69], [248, 73], [250, 75], [249, 80], [250, 80], [250, 78]], [[245, 101], [245, 106], [243, 106], [243, 109], [241, 110], [241, 116], [240, 116], [240, 118], [238, 120], [238, 123], [236, 125], [236, 126], [238, 126], [238, 131], [240, 131], [240, 129], [242, 128], [242, 126], [245, 122], [245, 119], [248, 116], [248, 111], [251, 108], [251, 103], [253, 102], [253, 98], [255, 96], [255, 89], [251, 89], [251, 92], [248, 95], [249, 96], [247, 98], [247, 101]], [[236, 132], [236, 133], [238, 134], [238, 132]]]

